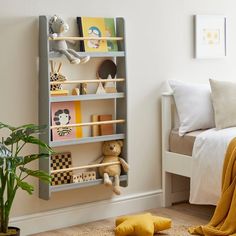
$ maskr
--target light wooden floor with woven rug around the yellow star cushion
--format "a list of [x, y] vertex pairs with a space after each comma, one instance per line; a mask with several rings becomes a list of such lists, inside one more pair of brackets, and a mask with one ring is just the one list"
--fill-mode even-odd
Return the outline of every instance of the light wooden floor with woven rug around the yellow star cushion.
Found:
[[[174, 205], [169, 208], [151, 209], [148, 212], [172, 219], [172, 229], [158, 235], [184, 236], [189, 235], [187, 232], [189, 226], [206, 224], [214, 212], [214, 207], [197, 206], [183, 203]], [[35, 234], [34, 236], [110, 236], [114, 235], [113, 229], [114, 219], [106, 219], [50, 232]]]

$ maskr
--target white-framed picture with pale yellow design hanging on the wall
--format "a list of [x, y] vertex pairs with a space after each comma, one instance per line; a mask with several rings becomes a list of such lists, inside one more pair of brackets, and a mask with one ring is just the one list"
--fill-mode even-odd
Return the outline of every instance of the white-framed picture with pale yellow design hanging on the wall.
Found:
[[195, 16], [195, 57], [223, 58], [226, 56], [226, 17]]

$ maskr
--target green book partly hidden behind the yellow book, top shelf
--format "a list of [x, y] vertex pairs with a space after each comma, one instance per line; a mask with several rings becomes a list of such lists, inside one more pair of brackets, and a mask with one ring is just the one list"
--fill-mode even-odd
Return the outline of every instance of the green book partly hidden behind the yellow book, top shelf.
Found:
[[[106, 37], [116, 37], [114, 18], [104, 18]], [[116, 40], [107, 40], [108, 51], [118, 51]]]

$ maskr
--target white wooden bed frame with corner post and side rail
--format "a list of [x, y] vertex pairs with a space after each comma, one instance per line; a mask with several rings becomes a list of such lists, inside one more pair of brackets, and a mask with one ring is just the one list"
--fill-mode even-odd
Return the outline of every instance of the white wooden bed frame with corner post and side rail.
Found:
[[[183, 185], [183, 178], [191, 176], [192, 158], [169, 151], [170, 131], [178, 127], [178, 116], [172, 93], [162, 94], [162, 190], [163, 206], [171, 206], [175, 202], [189, 199], [189, 190], [174, 191], [175, 185]], [[177, 177], [177, 182], [175, 181]], [[185, 181], [186, 185], [186, 181]]]

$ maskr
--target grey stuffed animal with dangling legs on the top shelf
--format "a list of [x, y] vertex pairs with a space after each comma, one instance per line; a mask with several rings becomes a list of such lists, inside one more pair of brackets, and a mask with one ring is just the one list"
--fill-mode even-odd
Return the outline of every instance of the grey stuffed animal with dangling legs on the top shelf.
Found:
[[[69, 25], [59, 16], [54, 15], [49, 20], [49, 36], [52, 39], [62, 37], [69, 30]], [[53, 51], [64, 54], [72, 64], [86, 63], [90, 57], [81, 57], [75, 50], [68, 48], [66, 40], [53, 40], [51, 42]]]

